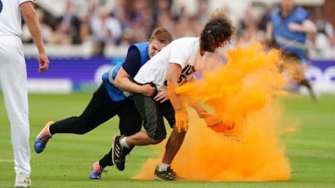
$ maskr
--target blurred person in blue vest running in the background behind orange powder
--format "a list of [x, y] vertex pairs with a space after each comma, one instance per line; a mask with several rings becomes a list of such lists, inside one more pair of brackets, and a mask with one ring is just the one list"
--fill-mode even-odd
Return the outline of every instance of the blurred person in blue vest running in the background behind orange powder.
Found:
[[292, 79], [300, 86], [306, 86], [313, 100], [316, 100], [311, 84], [304, 77], [307, 35], [317, 32], [315, 24], [308, 17], [304, 8], [295, 6], [295, 0], [281, 0], [281, 6], [270, 14], [267, 40], [283, 50], [283, 55], [288, 58], [285, 63], [290, 63], [284, 63], [283, 69], [293, 68], [295, 72]]

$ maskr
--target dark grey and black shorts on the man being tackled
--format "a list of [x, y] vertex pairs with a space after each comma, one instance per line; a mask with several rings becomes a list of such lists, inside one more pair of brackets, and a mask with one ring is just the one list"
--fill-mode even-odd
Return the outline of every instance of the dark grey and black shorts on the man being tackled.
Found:
[[134, 93], [134, 102], [137, 110], [143, 118], [143, 127], [151, 139], [165, 139], [166, 130], [163, 117], [173, 127], [176, 120], [174, 109], [170, 100], [163, 103], [156, 102], [153, 97], [146, 97], [140, 93]]

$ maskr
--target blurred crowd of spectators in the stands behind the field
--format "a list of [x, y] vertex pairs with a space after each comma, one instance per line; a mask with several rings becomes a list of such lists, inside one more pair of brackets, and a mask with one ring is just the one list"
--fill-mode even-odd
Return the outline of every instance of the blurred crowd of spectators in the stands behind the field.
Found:
[[[42, 7], [37, 8], [46, 44], [90, 45], [91, 55], [103, 55], [106, 47], [130, 45], [147, 41], [156, 27], [164, 26], [174, 38], [199, 36], [211, 14], [209, 0], [198, 0], [198, 11], [189, 13], [185, 6], [172, 11], [175, 0], [115, 0], [110, 8], [104, 1], [88, 1], [87, 9], [78, 13], [73, 1], [66, 1], [64, 13], [54, 16]], [[260, 8], [261, 7], [261, 8]], [[251, 40], [265, 42], [269, 13], [275, 5], [248, 6], [244, 16], [234, 17], [234, 11], [225, 8], [237, 26], [234, 45], [245, 45]], [[308, 54], [311, 58], [335, 58], [334, 26], [327, 22], [322, 9], [308, 10], [318, 33], [308, 36]], [[22, 40], [32, 42], [23, 26]]]

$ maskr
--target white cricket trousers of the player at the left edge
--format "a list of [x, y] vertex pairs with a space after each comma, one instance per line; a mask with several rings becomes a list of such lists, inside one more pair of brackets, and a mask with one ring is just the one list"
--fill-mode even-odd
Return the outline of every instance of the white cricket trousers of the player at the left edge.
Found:
[[15, 173], [29, 177], [27, 70], [18, 36], [0, 36], [0, 85], [10, 121]]

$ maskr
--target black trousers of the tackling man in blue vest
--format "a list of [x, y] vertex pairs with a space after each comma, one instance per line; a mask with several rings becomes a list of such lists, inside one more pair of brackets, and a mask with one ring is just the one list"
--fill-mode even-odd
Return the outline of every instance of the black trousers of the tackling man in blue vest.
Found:
[[[55, 122], [50, 126], [50, 133], [85, 134], [114, 116], [119, 116], [120, 134], [131, 136], [141, 130], [142, 118], [134, 101], [129, 97], [125, 100], [113, 101], [107, 93], [105, 84], [102, 83], [80, 116]], [[131, 150], [126, 152], [131, 152]], [[103, 168], [112, 165], [111, 150], [100, 162]]]

